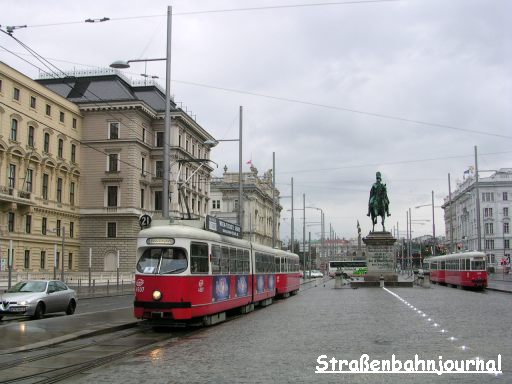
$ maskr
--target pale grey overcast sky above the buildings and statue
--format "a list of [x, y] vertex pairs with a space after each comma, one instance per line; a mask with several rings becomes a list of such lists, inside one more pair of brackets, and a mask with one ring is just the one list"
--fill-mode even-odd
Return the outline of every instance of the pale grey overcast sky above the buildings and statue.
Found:
[[[512, 2], [508, 0], [28, 1], [2, 7], [0, 25], [62, 70], [108, 67], [119, 59], [165, 57], [173, 6], [172, 93], [217, 139], [238, 138], [244, 108], [244, 171], [262, 175], [276, 156], [276, 182], [295, 208], [325, 212], [339, 237], [371, 230], [366, 216], [376, 171], [391, 201], [386, 229], [432, 218], [429, 207], [474, 165], [512, 168]], [[266, 8], [265, 8], [266, 7]], [[243, 9], [243, 10], [242, 10]], [[219, 12], [211, 12], [219, 11]], [[148, 17], [153, 16], [153, 17]], [[109, 17], [104, 23], [85, 19]], [[76, 22], [76, 23], [75, 23]], [[0, 60], [32, 78], [41, 67], [0, 34]], [[165, 63], [147, 73], [165, 86]], [[144, 64], [125, 74], [137, 78]], [[219, 164], [238, 170], [238, 143], [220, 143]], [[482, 173], [481, 176], [488, 175]], [[291, 199], [283, 198], [283, 240]], [[445, 233], [435, 208], [436, 234]], [[295, 238], [302, 212], [295, 212]], [[319, 211], [306, 232], [319, 237]], [[413, 236], [432, 222], [413, 224]], [[402, 235], [405, 235], [403, 233]], [[306, 235], [307, 236], [307, 235]]]

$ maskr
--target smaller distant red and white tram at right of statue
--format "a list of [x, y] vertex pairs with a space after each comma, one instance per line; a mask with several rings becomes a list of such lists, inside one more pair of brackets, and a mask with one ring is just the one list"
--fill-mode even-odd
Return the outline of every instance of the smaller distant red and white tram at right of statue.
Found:
[[487, 287], [487, 269], [483, 252], [433, 256], [425, 259], [423, 266], [425, 270], [430, 271], [430, 280], [434, 283], [480, 289]]

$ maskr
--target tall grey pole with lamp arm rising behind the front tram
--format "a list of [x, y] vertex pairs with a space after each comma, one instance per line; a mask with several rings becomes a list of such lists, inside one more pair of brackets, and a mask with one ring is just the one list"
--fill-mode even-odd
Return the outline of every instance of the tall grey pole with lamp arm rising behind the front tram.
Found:
[[171, 32], [172, 32], [172, 7], [167, 7], [167, 55], [161, 59], [136, 59], [118, 60], [110, 64], [112, 68], [125, 69], [130, 63], [165, 60], [165, 129], [164, 129], [164, 174], [162, 178], [162, 217], [169, 219], [169, 173], [170, 173], [170, 148], [171, 148]]

